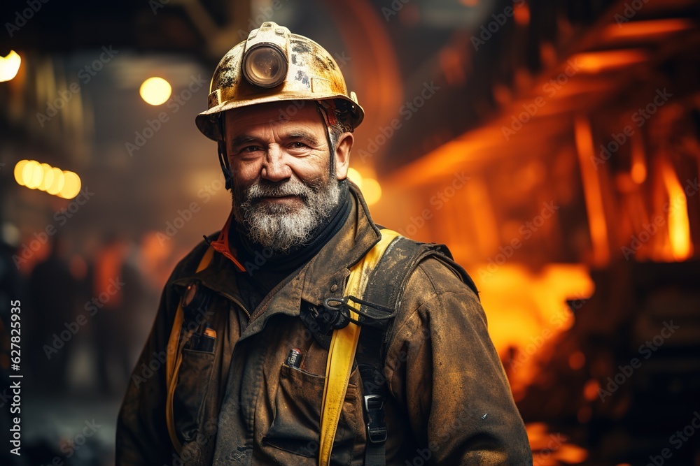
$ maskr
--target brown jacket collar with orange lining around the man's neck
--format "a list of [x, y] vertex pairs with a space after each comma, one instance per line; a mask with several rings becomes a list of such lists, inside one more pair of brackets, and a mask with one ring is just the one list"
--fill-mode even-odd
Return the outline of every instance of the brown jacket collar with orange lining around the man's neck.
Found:
[[[283, 279], [262, 300], [257, 310], [248, 310], [252, 319], [245, 334], [261, 330], [267, 318], [273, 314], [299, 315], [302, 300], [320, 306], [325, 298], [342, 296], [349, 269], [381, 238], [360, 190], [353, 183], [349, 183], [349, 187], [351, 212], [340, 231], [306, 265]], [[204, 286], [242, 307], [235, 274], [254, 273], [254, 270], [250, 264], [241, 265], [235, 257], [235, 249], [228, 244], [230, 223], [229, 217], [218, 240], [211, 242], [218, 254], [214, 255], [209, 267], [191, 277], [179, 279], [175, 284], [200, 279]], [[241, 268], [248, 270], [241, 271]], [[260, 316], [264, 318], [259, 319]]]

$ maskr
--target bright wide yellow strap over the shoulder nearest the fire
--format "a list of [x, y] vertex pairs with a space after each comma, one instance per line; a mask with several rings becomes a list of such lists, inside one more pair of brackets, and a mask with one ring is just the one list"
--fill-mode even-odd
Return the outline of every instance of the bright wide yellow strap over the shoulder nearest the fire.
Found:
[[[391, 230], [381, 230], [381, 240], [370, 249], [367, 254], [350, 269], [350, 277], [345, 286], [344, 296], [362, 298], [369, 279], [370, 272], [374, 270], [384, 254], [386, 247], [399, 234]], [[357, 303], [351, 303], [358, 309]], [[358, 319], [356, 312], [350, 312], [353, 319]], [[325, 387], [323, 388], [323, 402], [321, 404], [321, 441], [318, 453], [318, 465], [330, 464], [330, 452], [338, 428], [340, 412], [342, 411], [345, 392], [348, 388], [352, 363], [355, 359], [360, 327], [355, 323], [349, 323], [345, 328], [334, 330], [328, 349], [328, 362], [325, 365]]]

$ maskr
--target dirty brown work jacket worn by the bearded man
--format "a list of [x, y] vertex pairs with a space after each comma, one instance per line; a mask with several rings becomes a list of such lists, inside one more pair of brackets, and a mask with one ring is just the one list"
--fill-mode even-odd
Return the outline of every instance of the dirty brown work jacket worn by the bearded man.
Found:
[[[245, 309], [229, 259], [195, 247], [174, 270], [120, 410], [116, 464], [316, 465], [318, 423], [328, 351], [302, 323], [304, 303], [342, 296], [348, 268], [379, 240], [354, 187], [340, 231], [255, 310]], [[245, 273], [245, 272], [242, 272]], [[183, 287], [193, 277], [212, 291], [207, 319], [212, 351], [183, 350], [174, 394], [176, 454], [165, 421], [165, 351]], [[400, 282], [400, 280], [399, 280]], [[285, 364], [304, 354], [301, 370]], [[442, 261], [428, 258], [407, 282], [385, 365], [388, 465], [526, 465], [532, 463], [479, 300]], [[223, 407], [223, 410], [222, 410]], [[333, 446], [333, 465], [362, 465], [362, 384], [353, 370]]]

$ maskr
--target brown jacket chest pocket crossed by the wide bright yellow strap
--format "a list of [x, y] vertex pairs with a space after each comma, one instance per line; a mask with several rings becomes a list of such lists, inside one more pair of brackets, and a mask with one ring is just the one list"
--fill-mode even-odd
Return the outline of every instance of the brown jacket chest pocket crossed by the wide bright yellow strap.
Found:
[[[353, 373], [351, 381], [356, 379], [358, 375]], [[292, 453], [294, 456], [288, 456], [287, 463], [293, 462], [295, 465], [318, 463], [324, 385], [325, 377], [295, 369], [286, 364], [281, 366], [275, 395], [274, 417], [262, 442]], [[359, 440], [361, 445], [365, 442], [363, 433], [360, 393], [357, 385], [351, 383], [345, 394], [330, 463], [332, 465], [351, 464], [353, 456], [358, 453], [357, 441]], [[363, 449], [361, 446], [360, 448]], [[279, 455], [276, 456], [279, 457]]]

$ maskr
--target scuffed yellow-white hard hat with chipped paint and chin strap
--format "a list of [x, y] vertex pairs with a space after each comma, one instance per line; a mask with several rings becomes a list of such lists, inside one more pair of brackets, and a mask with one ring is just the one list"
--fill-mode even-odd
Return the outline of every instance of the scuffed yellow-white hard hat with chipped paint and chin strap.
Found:
[[[346, 131], [355, 129], [365, 115], [328, 50], [266, 21], [219, 62], [209, 85], [207, 110], [197, 115], [197, 128], [221, 142], [223, 112], [276, 101], [316, 101], [326, 123], [341, 123]], [[222, 164], [228, 173], [223, 156]]]

